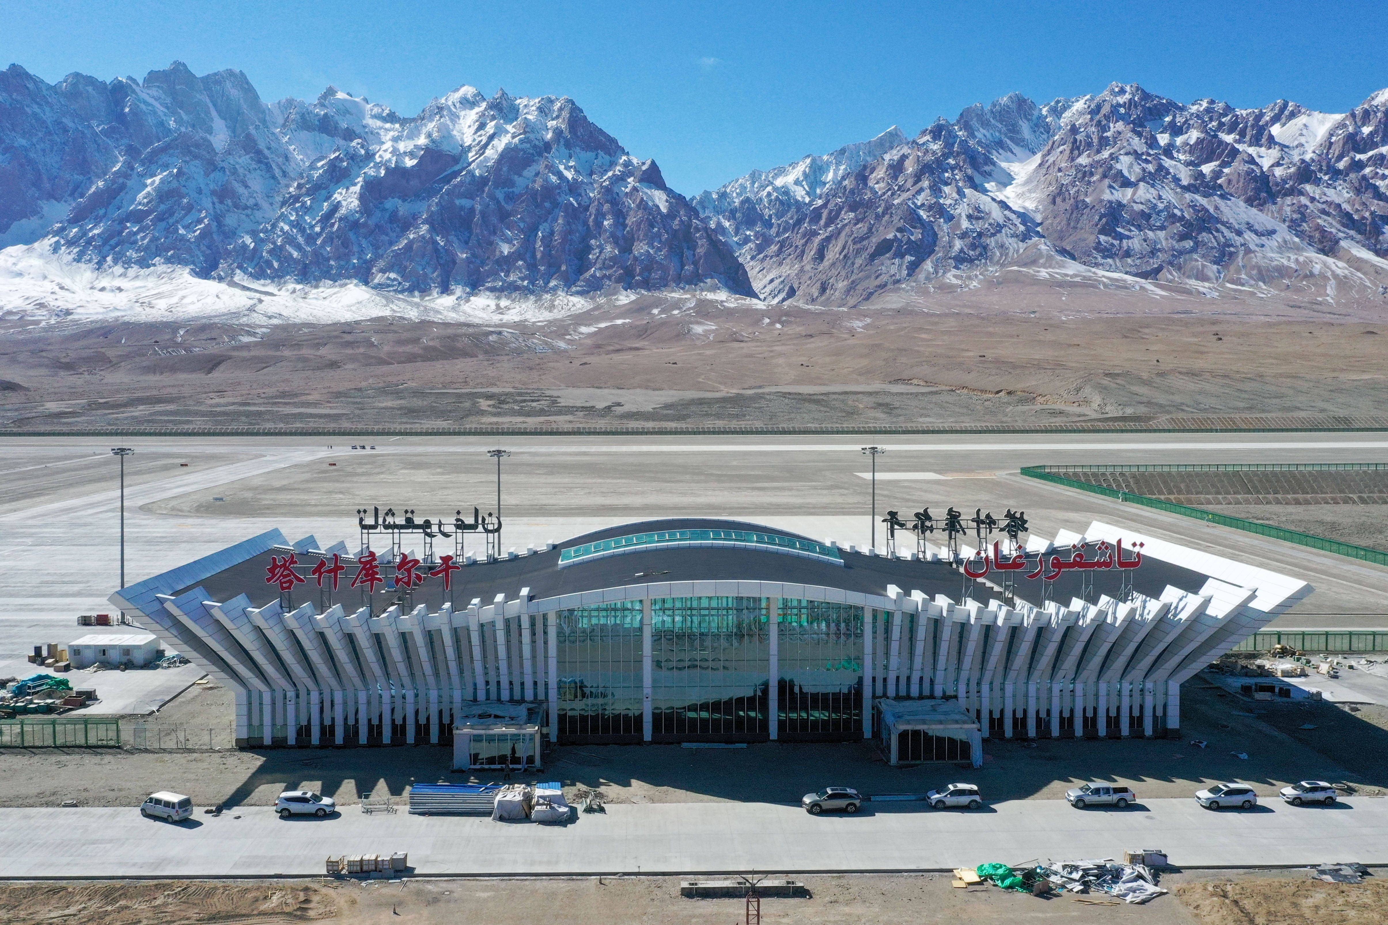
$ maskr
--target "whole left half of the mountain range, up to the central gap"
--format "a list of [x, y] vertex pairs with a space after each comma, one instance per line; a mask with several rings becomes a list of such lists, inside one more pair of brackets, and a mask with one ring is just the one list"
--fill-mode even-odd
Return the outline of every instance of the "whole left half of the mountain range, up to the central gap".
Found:
[[403, 118], [329, 87], [266, 105], [239, 71], [198, 78], [175, 62], [143, 82], [57, 86], [15, 65], [0, 107], [14, 114], [0, 121], [0, 190], [24, 193], [0, 232], [47, 234], [97, 269], [415, 294], [752, 295], [659, 168], [568, 98], [461, 87]]

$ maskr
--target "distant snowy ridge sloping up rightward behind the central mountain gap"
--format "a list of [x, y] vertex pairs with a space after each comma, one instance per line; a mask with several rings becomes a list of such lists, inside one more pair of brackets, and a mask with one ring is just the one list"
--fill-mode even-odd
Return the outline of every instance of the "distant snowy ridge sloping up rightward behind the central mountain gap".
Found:
[[905, 143], [906, 136], [894, 125], [867, 141], [811, 154], [772, 171], [752, 171], [690, 201], [743, 259], [750, 259], [776, 240], [777, 222], [802, 214], [824, 190]]

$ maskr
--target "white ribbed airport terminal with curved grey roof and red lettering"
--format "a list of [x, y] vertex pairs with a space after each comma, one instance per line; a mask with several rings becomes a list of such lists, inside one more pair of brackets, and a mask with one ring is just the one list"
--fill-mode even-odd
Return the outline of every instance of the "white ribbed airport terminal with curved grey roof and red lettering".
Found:
[[1312, 591], [1102, 523], [958, 553], [709, 519], [483, 560], [271, 530], [111, 600], [236, 692], [240, 746], [519, 716], [559, 743], [876, 738], [977, 764], [990, 736], [1178, 735], [1181, 682]]

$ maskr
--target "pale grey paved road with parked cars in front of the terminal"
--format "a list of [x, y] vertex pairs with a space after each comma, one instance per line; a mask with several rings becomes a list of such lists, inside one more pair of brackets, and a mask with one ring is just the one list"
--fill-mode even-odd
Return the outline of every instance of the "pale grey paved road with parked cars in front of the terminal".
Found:
[[418, 874], [436, 875], [917, 871], [1153, 847], [1185, 868], [1385, 864], [1388, 799], [1248, 813], [1210, 813], [1190, 799], [1126, 811], [1080, 811], [1063, 800], [977, 813], [884, 804], [856, 817], [769, 803], [619, 804], [568, 827], [355, 807], [340, 818], [289, 821], [247, 807], [180, 825], [133, 809], [0, 810], [7, 878], [318, 875], [330, 854], [390, 851], [408, 851]]

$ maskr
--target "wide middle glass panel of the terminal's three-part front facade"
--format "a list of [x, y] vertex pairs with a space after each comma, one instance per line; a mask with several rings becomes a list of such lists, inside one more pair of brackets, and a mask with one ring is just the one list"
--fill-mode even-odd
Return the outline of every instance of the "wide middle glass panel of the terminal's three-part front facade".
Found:
[[763, 598], [651, 600], [652, 739], [769, 739], [769, 668]]

